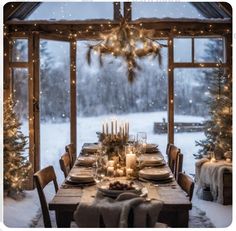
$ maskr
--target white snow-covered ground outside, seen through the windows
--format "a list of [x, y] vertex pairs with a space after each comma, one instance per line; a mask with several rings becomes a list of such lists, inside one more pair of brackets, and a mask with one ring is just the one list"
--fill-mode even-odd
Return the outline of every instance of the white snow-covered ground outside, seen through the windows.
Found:
[[[136, 135], [137, 132], [146, 132], [147, 141], [156, 143], [160, 150], [165, 154], [167, 145], [167, 134], [154, 134], [154, 122], [167, 121], [167, 112], [151, 112], [151, 113], [132, 113], [127, 115], [104, 115], [97, 117], [78, 117], [77, 118], [77, 151], [79, 151], [83, 143], [97, 142], [97, 131], [101, 131], [102, 123], [111, 118], [118, 121], [128, 121], [130, 124], [130, 134]], [[176, 122], [201, 122], [202, 117], [176, 115]], [[42, 123], [41, 124], [41, 167], [49, 164], [55, 167], [59, 181], [63, 179], [62, 172], [59, 167], [59, 158], [64, 152], [66, 144], [70, 143], [70, 124], [68, 123]], [[195, 140], [204, 138], [203, 132], [196, 133], [177, 133], [175, 134], [175, 144], [181, 148], [184, 154], [183, 169], [189, 174], [194, 173], [194, 157], [193, 153], [197, 153], [198, 148], [195, 147]]]

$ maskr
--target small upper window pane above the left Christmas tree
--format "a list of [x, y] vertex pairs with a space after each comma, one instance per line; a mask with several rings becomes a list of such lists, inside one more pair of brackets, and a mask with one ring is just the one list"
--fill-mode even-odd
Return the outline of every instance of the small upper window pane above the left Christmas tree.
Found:
[[28, 39], [12, 40], [12, 62], [28, 62]]

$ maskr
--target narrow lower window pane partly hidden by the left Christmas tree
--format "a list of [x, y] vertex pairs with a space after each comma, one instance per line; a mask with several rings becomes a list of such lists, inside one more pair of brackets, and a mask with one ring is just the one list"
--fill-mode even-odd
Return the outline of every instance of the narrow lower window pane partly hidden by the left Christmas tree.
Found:
[[[13, 68], [13, 99], [15, 112], [20, 119], [21, 131], [29, 136], [29, 95], [28, 95], [28, 69]], [[28, 156], [28, 150], [25, 153]]]

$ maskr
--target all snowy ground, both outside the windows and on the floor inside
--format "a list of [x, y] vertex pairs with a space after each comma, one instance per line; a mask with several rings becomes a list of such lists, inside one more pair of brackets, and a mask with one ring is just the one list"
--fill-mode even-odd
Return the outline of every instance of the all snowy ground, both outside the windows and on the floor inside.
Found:
[[[116, 118], [118, 121], [128, 121], [130, 123], [130, 134], [144, 131], [147, 133], [149, 143], [157, 143], [162, 153], [165, 153], [167, 144], [167, 134], [154, 134], [154, 122], [162, 122], [163, 118], [167, 121], [166, 112], [153, 113], [133, 113], [120, 116], [99, 116], [88, 118], [77, 118], [77, 150], [85, 142], [96, 142], [97, 131], [101, 131], [101, 125], [106, 119]], [[203, 118], [194, 116], [175, 116], [178, 122], [200, 122]], [[58, 177], [58, 182], [63, 180], [63, 174], [59, 168], [59, 158], [64, 152], [64, 147], [68, 144], [70, 134], [69, 123], [42, 123], [41, 124], [41, 167], [49, 164], [53, 165]], [[188, 174], [194, 174], [193, 153], [197, 152], [195, 140], [204, 138], [203, 132], [196, 133], [177, 133], [175, 134], [175, 144], [181, 148], [184, 154], [183, 170]], [[48, 200], [54, 195], [51, 186], [46, 188]], [[207, 216], [212, 220], [216, 227], [226, 227], [232, 218], [232, 206], [223, 206], [214, 202], [206, 202], [193, 197], [193, 204], [206, 211]], [[8, 227], [28, 227], [32, 218], [35, 217], [40, 207], [36, 190], [27, 191], [23, 201], [15, 201], [11, 198], [4, 199], [4, 223]]]

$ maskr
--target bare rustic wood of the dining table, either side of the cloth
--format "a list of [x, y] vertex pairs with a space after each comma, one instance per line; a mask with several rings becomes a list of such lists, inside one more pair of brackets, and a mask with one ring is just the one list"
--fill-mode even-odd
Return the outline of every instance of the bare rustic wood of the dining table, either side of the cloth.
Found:
[[[161, 155], [161, 153], [158, 153]], [[167, 166], [166, 166], [167, 167]], [[79, 167], [75, 164], [71, 171], [76, 172]], [[117, 178], [116, 180], [119, 180]], [[166, 223], [169, 227], [188, 227], [189, 210], [192, 203], [186, 193], [181, 189], [176, 180], [171, 183], [153, 184], [142, 182], [148, 189], [148, 197], [164, 202], [158, 217], [158, 222]], [[80, 204], [83, 194], [96, 196], [97, 186], [66, 186], [61, 185], [53, 199], [49, 202], [49, 210], [54, 210], [58, 227], [70, 227], [73, 220], [73, 213]]]

